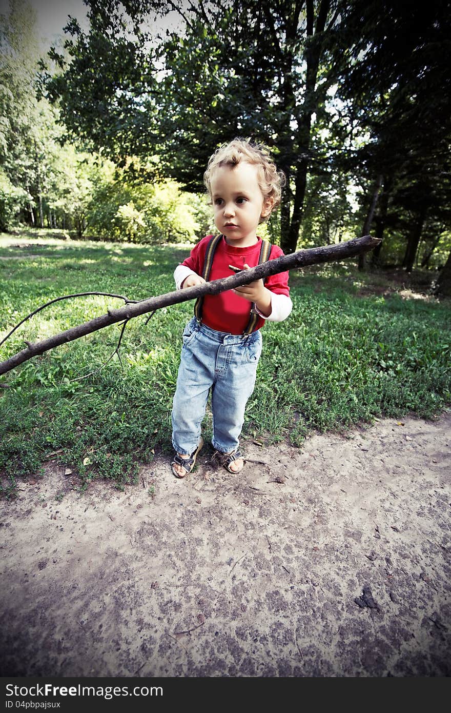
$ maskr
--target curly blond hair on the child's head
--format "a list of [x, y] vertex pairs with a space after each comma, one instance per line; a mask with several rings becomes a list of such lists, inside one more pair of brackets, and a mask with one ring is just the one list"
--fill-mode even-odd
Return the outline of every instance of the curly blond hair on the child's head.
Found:
[[237, 166], [242, 161], [252, 163], [257, 168], [257, 180], [264, 198], [272, 198], [271, 211], [266, 217], [261, 217], [260, 222], [266, 222], [271, 212], [276, 209], [281, 201], [282, 188], [285, 185], [285, 175], [278, 171], [274, 160], [271, 158], [269, 148], [264, 143], [253, 143], [249, 139], [234, 138], [229, 143], [223, 143], [210, 156], [207, 170], [204, 173], [204, 184], [212, 198], [212, 174], [221, 166]]

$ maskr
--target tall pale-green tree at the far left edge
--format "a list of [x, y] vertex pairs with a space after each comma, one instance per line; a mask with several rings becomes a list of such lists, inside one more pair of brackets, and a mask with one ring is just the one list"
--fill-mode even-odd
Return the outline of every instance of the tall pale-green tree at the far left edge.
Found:
[[11, 0], [9, 16], [0, 16], [0, 48], [0, 222], [4, 230], [17, 217], [43, 227], [46, 212], [50, 218], [48, 192], [52, 184], [56, 189], [53, 177], [65, 155], [56, 109], [36, 98], [40, 53], [28, 2]]

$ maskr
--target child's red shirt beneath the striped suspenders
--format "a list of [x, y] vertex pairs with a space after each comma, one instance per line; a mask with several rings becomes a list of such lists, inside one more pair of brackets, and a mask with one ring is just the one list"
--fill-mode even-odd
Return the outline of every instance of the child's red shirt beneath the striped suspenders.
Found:
[[[193, 247], [190, 257], [182, 262], [182, 265], [190, 267], [197, 275], [202, 275], [204, 269], [204, 258], [207, 250], [207, 245], [212, 236], [202, 238], [200, 242]], [[261, 250], [261, 238], [255, 245], [247, 247], [234, 247], [228, 245], [222, 237], [214, 252], [212, 270], [209, 275], [209, 282], [221, 277], [230, 277], [234, 272], [230, 270], [229, 265], [235, 267], [243, 267], [246, 262], [249, 267], [256, 267], [259, 264]], [[281, 248], [277, 245], [271, 247], [269, 260], [274, 260], [276, 257], [284, 255]], [[289, 295], [288, 272], [279, 272], [279, 275], [271, 275], [266, 277], [265, 287], [275, 294]], [[230, 332], [231, 334], [242, 334], [249, 323], [251, 311], [251, 302], [239, 297], [237, 294], [228, 289], [220, 294], [206, 294], [202, 305], [202, 322], [216, 329], [217, 332]], [[264, 319], [259, 317], [256, 324], [256, 329], [260, 329], [264, 325]]]

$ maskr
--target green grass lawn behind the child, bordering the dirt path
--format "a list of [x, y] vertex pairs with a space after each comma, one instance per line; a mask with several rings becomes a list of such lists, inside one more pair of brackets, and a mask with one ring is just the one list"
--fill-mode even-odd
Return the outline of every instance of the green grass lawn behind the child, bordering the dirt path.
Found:
[[[0, 335], [63, 294], [98, 290], [143, 299], [171, 292], [174, 267], [188, 250], [0, 237]], [[291, 272], [290, 284], [291, 316], [263, 330], [244, 435], [288, 436], [299, 444], [312, 429], [409, 412], [431, 418], [450, 403], [449, 300], [406, 299], [383, 274], [361, 275], [351, 262]], [[0, 347], [0, 361], [23, 349], [24, 339], [43, 339], [121, 304], [104, 297], [58, 302]], [[170, 452], [182, 327], [192, 307], [161, 309], [147, 327], [146, 316], [133, 319], [123, 337], [123, 368], [114, 357], [74, 381], [114, 351], [120, 327], [113, 326], [1, 377], [10, 388], [0, 389], [0, 492], [11, 496], [16, 478], [37, 473], [49, 457], [71, 466], [82, 490], [93, 478], [123, 489], [154, 451]], [[204, 425], [208, 436], [208, 415]]]

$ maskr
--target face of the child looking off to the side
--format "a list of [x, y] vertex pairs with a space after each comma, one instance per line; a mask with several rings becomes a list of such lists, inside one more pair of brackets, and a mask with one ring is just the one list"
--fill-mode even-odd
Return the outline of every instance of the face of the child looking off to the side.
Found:
[[212, 175], [214, 223], [229, 245], [254, 245], [260, 218], [271, 212], [273, 199], [261, 193], [257, 170], [255, 164], [242, 161], [219, 166]]

